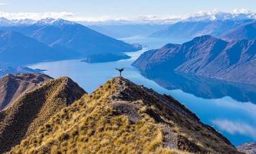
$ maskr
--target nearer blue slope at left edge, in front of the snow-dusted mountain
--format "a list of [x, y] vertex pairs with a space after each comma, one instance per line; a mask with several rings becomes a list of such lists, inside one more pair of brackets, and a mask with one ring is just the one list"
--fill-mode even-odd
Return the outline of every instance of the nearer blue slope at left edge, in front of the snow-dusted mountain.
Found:
[[7, 65], [67, 59], [71, 55], [78, 54], [53, 49], [19, 32], [0, 32], [0, 62]]

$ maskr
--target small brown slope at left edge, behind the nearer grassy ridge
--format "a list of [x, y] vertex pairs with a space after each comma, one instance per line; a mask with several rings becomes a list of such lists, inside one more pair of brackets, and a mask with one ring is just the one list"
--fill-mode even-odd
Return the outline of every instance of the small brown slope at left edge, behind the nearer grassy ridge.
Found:
[[15, 102], [19, 96], [52, 79], [48, 75], [25, 73], [5, 75], [0, 79], [0, 111]]

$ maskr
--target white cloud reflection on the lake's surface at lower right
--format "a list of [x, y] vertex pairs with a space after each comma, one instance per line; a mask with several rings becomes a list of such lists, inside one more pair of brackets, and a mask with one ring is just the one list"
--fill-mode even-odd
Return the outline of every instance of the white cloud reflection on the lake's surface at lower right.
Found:
[[221, 131], [230, 133], [231, 135], [250, 136], [256, 139], [256, 128], [247, 123], [227, 119], [215, 119], [213, 124]]

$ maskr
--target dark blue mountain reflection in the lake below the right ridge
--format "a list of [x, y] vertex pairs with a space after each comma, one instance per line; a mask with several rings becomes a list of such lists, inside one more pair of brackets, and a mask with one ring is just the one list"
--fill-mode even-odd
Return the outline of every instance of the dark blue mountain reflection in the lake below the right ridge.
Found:
[[[230, 96], [239, 102], [256, 104], [256, 85], [227, 82], [177, 72], [153, 72], [153, 74], [143, 75], [165, 89], [181, 89], [203, 99], [221, 99]], [[197, 88], [195, 89], [195, 87]]]

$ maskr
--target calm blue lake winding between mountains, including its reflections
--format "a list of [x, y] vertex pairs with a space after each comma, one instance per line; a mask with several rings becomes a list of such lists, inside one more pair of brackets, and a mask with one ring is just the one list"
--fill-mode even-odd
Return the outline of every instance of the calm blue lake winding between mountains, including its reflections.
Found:
[[[235, 145], [256, 141], [256, 87], [194, 76], [165, 74], [141, 75], [131, 63], [148, 49], [157, 49], [172, 42], [187, 40], [126, 38], [126, 42], [140, 43], [147, 47], [139, 52], [129, 52], [131, 59], [118, 62], [88, 64], [79, 59], [59, 62], [42, 62], [29, 65], [33, 69], [46, 69], [45, 74], [54, 78], [69, 76], [86, 92], [93, 92], [106, 80], [119, 75], [115, 68], [125, 68], [123, 76], [139, 85], [157, 92], [172, 95], [188, 109], [195, 112], [202, 122], [213, 126]], [[147, 76], [147, 77], [145, 77]]]

